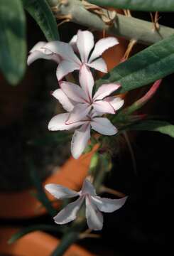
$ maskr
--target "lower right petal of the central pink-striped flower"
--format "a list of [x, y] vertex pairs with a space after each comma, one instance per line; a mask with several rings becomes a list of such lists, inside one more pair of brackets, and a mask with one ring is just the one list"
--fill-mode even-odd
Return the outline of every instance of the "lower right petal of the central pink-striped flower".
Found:
[[101, 113], [115, 114], [114, 107], [105, 100], [95, 101], [92, 106], [94, 110]]

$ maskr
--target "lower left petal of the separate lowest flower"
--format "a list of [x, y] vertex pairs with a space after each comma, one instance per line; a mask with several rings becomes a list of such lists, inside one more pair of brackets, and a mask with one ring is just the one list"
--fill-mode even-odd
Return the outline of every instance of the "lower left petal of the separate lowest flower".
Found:
[[75, 220], [77, 217], [77, 211], [80, 209], [80, 206], [82, 206], [83, 201], [84, 198], [80, 197], [75, 202], [69, 203], [65, 208], [60, 210], [58, 215], [54, 217], [55, 223], [65, 224]]

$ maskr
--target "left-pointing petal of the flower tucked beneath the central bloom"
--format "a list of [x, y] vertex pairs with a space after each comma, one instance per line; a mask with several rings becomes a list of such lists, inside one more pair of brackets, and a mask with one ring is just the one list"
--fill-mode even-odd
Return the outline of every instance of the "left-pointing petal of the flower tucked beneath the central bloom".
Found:
[[48, 124], [48, 129], [50, 131], [62, 131], [62, 130], [70, 130], [76, 127], [79, 127], [84, 122], [76, 122], [73, 124], [65, 124], [67, 118], [69, 117], [69, 113], [57, 114], [55, 117], [50, 119]]

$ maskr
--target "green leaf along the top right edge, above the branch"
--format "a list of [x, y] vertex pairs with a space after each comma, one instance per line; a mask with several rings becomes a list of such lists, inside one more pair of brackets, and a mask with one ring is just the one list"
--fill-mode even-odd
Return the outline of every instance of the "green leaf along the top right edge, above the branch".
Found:
[[174, 11], [173, 0], [88, 0], [98, 6], [110, 6], [134, 11]]

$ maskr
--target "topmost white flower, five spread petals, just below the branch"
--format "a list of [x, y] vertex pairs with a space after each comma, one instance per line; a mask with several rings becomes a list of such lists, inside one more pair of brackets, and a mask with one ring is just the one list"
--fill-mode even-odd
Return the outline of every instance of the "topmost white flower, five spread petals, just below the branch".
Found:
[[[62, 61], [60, 61], [58, 65], [56, 75], [58, 80], [62, 80], [68, 73], [74, 70], [80, 70], [82, 64], [107, 73], [107, 65], [99, 56], [101, 56], [105, 50], [118, 43], [116, 38], [107, 37], [100, 39], [94, 46], [94, 36], [91, 32], [78, 31], [77, 35], [72, 38], [69, 44], [60, 41], [51, 41], [46, 43], [43, 49], [50, 50], [50, 52], [61, 56]], [[78, 50], [80, 58], [75, 55], [75, 48]]]

